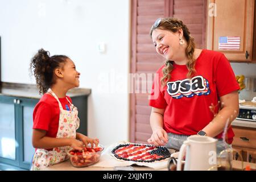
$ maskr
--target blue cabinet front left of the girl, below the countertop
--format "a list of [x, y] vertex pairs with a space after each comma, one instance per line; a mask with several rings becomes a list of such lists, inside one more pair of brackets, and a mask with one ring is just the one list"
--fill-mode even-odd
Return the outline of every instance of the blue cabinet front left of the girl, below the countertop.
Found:
[[32, 147], [32, 113], [39, 100], [0, 96], [0, 163], [29, 169]]

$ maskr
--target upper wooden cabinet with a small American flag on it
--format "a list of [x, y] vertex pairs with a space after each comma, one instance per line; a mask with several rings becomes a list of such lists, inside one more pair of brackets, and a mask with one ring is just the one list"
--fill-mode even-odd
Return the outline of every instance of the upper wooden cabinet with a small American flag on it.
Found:
[[207, 49], [230, 61], [253, 60], [254, 0], [208, 0]]

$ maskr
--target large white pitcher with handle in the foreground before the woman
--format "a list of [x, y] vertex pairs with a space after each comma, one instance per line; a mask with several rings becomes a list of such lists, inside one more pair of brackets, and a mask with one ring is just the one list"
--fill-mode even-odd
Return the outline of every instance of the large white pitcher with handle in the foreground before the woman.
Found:
[[217, 163], [217, 139], [199, 135], [191, 135], [180, 147], [177, 159], [177, 171], [181, 171], [181, 159], [184, 152], [185, 166], [184, 171], [206, 171]]

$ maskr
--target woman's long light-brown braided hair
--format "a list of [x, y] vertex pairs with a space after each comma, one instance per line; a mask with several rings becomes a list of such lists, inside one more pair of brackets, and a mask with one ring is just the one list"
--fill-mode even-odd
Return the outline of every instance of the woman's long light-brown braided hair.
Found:
[[[183, 30], [183, 36], [185, 40], [187, 41], [188, 47], [185, 50], [185, 53], [188, 57], [188, 62], [187, 62], [187, 68], [188, 68], [188, 74], [187, 77], [191, 78], [193, 75], [196, 73], [195, 69], [195, 63], [196, 60], [193, 57], [193, 53], [195, 52], [195, 41], [192, 36], [190, 36], [190, 32], [188, 30], [188, 27], [183, 24], [183, 22], [179, 19], [176, 18], [163, 18], [158, 26], [152, 26], [150, 30], [150, 36], [152, 39], [152, 32], [156, 29], [162, 29], [162, 30], [169, 30], [172, 32], [177, 32], [180, 28]], [[163, 68], [163, 77], [161, 78], [161, 85], [164, 86], [166, 83], [170, 80], [171, 75], [170, 73], [172, 72], [173, 61], [171, 60], [166, 60], [165, 61], [165, 67]]]

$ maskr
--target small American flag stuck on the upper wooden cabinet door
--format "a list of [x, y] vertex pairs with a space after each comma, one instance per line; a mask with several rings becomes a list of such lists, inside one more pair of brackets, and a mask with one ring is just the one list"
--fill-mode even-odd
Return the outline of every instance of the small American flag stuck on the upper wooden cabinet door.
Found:
[[218, 49], [239, 50], [240, 36], [220, 36], [218, 38]]

